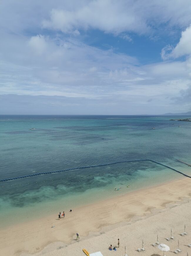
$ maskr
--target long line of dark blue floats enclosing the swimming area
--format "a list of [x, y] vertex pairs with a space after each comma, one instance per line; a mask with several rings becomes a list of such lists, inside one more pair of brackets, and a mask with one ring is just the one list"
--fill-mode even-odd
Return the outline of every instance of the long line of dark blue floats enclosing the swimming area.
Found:
[[[60, 170], [60, 171], [53, 171], [53, 172], [40, 172], [40, 173], [35, 173], [35, 174], [31, 174], [31, 175], [26, 175], [26, 176], [21, 176], [21, 177], [15, 177], [15, 178], [9, 178], [9, 179], [4, 179], [4, 180], [0, 180], [0, 182], [2, 181], [7, 181], [7, 180], [16, 180], [16, 179], [22, 179], [22, 178], [26, 178], [26, 177], [32, 177], [32, 176], [36, 176], [36, 175], [42, 175], [42, 174], [49, 174], [49, 173], [56, 173], [56, 172], [66, 172], [66, 171], [72, 171], [72, 170], [76, 170], [76, 169], [85, 169], [85, 168], [91, 168], [91, 167], [98, 167], [98, 166], [105, 166], [105, 165], [110, 165], [110, 164], [120, 164], [120, 163], [129, 163], [129, 162], [140, 162], [140, 161], [150, 161], [150, 162], [153, 162], [153, 163], [156, 163], [156, 164], [160, 164], [156, 161], [153, 161], [153, 160], [150, 160], [150, 159], [143, 159], [143, 160], [131, 160], [131, 161], [120, 161], [120, 162], [114, 162], [114, 163], [109, 163], [109, 164], [98, 164], [98, 165], [92, 165], [92, 166], [84, 166], [84, 167], [77, 167], [77, 168], [72, 168], [72, 169], [66, 169], [66, 170]], [[183, 172], [179, 172], [165, 164], [160, 164], [162, 166], [165, 166], [175, 172], [178, 172], [186, 177], [189, 177], [191, 178], [191, 176], [189, 175], [186, 175], [185, 173]]]

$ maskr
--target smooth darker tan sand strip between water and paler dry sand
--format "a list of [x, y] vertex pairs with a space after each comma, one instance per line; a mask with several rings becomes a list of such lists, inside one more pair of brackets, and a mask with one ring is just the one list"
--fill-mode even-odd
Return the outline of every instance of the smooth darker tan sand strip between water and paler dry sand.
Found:
[[190, 178], [176, 179], [82, 206], [73, 209], [71, 213], [67, 211], [65, 219], [58, 220], [55, 215], [51, 215], [15, 224], [0, 229], [0, 242], [4, 244], [1, 251], [4, 255], [28, 255], [41, 251], [46, 246], [51, 247], [53, 243], [69, 246], [75, 241], [77, 232], [83, 241], [92, 232], [96, 234], [101, 229], [113, 229], [121, 223], [127, 224], [133, 219], [152, 216], [152, 212], [162, 211], [167, 204], [183, 203], [190, 195]]

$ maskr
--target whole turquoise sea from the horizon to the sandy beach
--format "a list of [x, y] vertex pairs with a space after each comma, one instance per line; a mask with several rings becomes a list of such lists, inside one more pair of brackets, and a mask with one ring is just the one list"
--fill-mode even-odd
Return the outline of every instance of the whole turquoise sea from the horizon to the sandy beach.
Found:
[[[177, 161], [191, 163], [191, 123], [171, 118], [176, 117], [1, 115], [0, 180], [136, 159], [152, 159], [191, 175], [191, 167]], [[183, 177], [152, 162], [133, 162], [1, 182], [0, 223], [57, 215]], [[14, 215], [7, 220], [10, 211]]]

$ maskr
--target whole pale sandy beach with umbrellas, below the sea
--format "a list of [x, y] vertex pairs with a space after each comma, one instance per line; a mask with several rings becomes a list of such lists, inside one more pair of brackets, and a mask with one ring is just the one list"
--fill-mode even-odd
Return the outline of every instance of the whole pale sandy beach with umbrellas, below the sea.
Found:
[[[181, 178], [181, 177], [180, 177]], [[163, 255], [151, 244], [159, 241], [169, 245], [174, 254], [177, 240], [185, 252], [191, 248], [190, 201], [191, 179], [182, 178], [154, 187], [120, 195], [92, 205], [66, 210], [64, 219], [58, 220], [57, 213], [44, 216], [23, 224], [1, 229], [1, 255], [85, 255], [86, 248], [90, 253], [101, 251], [104, 256], [113, 253], [124, 255], [127, 246], [128, 255], [138, 255], [137, 248], [145, 240], [144, 255]], [[62, 211], [62, 209], [61, 209]], [[180, 236], [187, 225], [187, 236]], [[170, 237], [170, 228], [175, 240]], [[76, 233], [80, 239], [76, 242]], [[108, 246], [117, 245], [117, 252], [110, 252]], [[182, 254], [183, 255], [183, 254]]]

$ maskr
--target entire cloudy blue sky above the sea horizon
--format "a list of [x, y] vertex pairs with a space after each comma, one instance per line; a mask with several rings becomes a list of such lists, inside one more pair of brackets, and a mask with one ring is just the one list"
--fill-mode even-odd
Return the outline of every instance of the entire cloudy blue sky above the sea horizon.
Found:
[[2, 0], [0, 114], [191, 110], [191, 0]]

